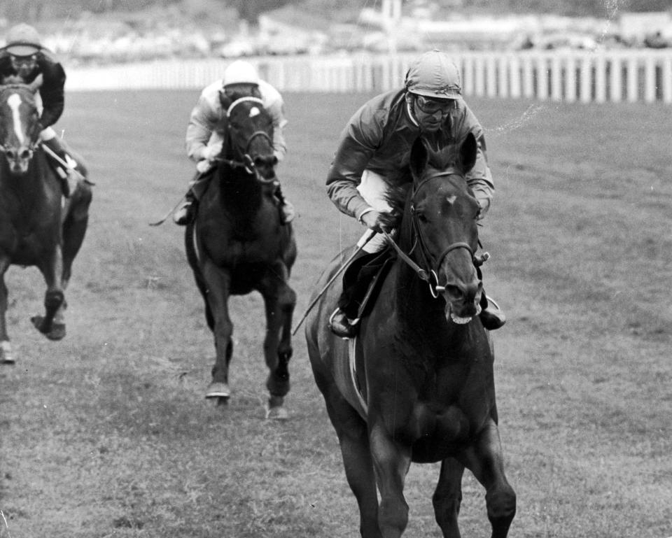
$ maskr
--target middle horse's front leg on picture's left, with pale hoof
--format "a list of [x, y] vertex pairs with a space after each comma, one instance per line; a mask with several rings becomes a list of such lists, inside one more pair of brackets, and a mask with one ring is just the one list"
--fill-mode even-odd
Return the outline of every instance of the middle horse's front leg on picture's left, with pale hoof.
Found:
[[213, 334], [215, 339], [215, 364], [212, 367], [212, 381], [205, 397], [225, 402], [230, 397], [229, 362], [232, 355], [233, 323], [229, 316], [229, 292], [231, 276], [228, 271], [216, 267], [206, 260], [203, 265], [203, 278], [207, 285], [207, 302], [214, 318]]

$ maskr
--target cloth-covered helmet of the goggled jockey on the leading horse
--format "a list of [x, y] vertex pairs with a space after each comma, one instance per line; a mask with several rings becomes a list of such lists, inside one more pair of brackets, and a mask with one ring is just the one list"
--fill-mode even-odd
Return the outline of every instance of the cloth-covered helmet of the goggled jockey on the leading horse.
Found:
[[433, 99], [458, 99], [462, 94], [460, 70], [444, 52], [430, 50], [410, 66], [406, 90]]

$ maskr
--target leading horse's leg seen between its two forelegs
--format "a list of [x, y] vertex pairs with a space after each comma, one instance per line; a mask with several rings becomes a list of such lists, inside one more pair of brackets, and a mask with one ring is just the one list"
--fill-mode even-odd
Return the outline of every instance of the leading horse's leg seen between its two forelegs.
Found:
[[462, 503], [462, 475], [464, 465], [454, 458], [441, 462], [439, 481], [432, 497], [436, 522], [444, 538], [460, 538], [457, 516]]

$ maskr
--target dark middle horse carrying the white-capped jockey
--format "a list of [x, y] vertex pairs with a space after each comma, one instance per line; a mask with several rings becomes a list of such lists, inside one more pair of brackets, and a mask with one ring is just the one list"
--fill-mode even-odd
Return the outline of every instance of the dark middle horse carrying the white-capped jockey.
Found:
[[264, 355], [269, 369], [268, 418], [286, 418], [292, 355], [290, 325], [296, 294], [288, 285], [296, 259], [290, 224], [280, 220], [274, 197], [277, 158], [273, 126], [257, 97], [221, 96], [227, 110], [222, 155], [185, 232], [188, 262], [214, 333], [216, 359], [206, 397], [225, 404], [233, 353], [230, 295], [261, 293], [266, 311]]

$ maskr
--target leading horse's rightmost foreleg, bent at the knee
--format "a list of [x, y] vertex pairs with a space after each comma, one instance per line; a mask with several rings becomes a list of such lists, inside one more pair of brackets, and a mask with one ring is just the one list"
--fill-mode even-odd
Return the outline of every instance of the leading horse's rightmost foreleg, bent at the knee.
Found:
[[516, 515], [516, 494], [504, 474], [502, 446], [494, 420], [490, 419], [462, 459], [486, 490], [492, 538], [505, 538]]

